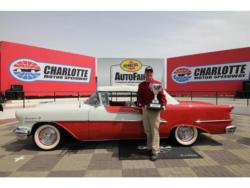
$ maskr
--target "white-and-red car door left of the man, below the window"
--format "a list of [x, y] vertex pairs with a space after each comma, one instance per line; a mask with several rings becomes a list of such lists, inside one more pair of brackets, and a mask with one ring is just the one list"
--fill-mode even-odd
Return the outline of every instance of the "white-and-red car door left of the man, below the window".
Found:
[[135, 106], [119, 105], [118, 102], [116, 105], [100, 105], [89, 111], [89, 138], [92, 140], [143, 137], [141, 110]]

